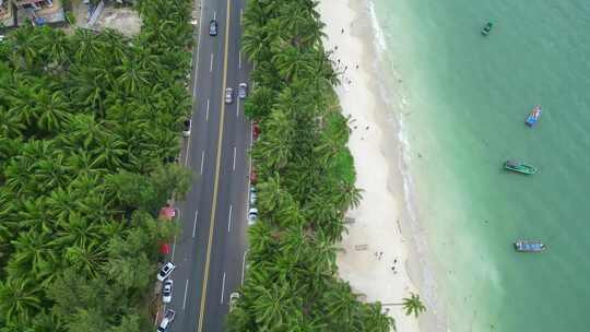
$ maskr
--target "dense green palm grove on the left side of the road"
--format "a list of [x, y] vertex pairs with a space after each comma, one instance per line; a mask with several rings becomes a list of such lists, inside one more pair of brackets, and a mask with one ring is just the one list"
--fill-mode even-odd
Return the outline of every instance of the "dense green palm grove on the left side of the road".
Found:
[[190, 174], [189, 0], [142, 0], [134, 38], [24, 26], [0, 44], [0, 331], [143, 332], [157, 220]]

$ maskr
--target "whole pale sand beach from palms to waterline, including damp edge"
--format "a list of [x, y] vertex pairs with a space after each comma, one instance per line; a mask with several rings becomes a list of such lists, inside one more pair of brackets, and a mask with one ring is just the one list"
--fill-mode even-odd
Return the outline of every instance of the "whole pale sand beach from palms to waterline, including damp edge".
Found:
[[[386, 60], [376, 48], [386, 47], [384, 37], [373, 26], [368, 1], [329, 2], [320, 1], [318, 7], [326, 24], [324, 47], [333, 50], [332, 60], [344, 71], [335, 92], [343, 115], [351, 117], [349, 147], [355, 161], [356, 185], [364, 190], [361, 205], [347, 214], [355, 223], [349, 225], [340, 244], [345, 252], [338, 257], [340, 276], [368, 301], [398, 304], [411, 293], [420, 294], [427, 311], [418, 319], [405, 316], [401, 306], [384, 308], [389, 309], [400, 331], [435, 331], [435, 327], [442, 331], [436, 300], [429, 299], [435, 290], [432, 274], [424, 266], [425, 240], [416, 237], [421, 227], [408, 206], [411, 188], [402, 174], [409, 161], [401, 114], [380, 111], [396, 109], [386, 98], [391, 84], [378, 75], [382, 72], [379, 62]], [[403, 105], [403, 98], [399, 103]]]

